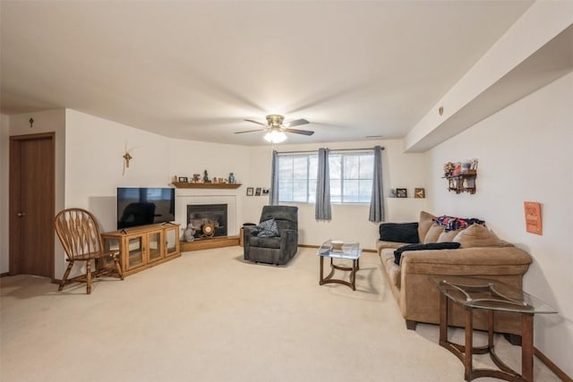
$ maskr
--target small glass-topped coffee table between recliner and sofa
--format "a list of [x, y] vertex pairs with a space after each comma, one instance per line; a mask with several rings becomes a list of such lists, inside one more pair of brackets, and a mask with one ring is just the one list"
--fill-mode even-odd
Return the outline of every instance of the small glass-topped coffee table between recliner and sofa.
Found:
[[[343, 284], [352, 288], [353, 291], [356, 290], [356, 271], [360, 269], [360, 255], [362, 254], [362, 248], [357, 242], [343, 244], [342, 248], [339, 250], [333, 249], [332, 241], [328, 240], [321, 245], [318, 252], [316, 253], [321, 258], [321, 278], [319, 284]], [[330, 259], [330, 273], [328, 276], [324, 276], [324, 258]], [[351, 267], [342, 267], [335, 265], [334, 259], [345, 259], [351, 260]], [[338, 278], [332, 278], [334, 276], [334, 271], [343, 270], [350, 272], [350, 282], [346, 280], [341, 280]]]

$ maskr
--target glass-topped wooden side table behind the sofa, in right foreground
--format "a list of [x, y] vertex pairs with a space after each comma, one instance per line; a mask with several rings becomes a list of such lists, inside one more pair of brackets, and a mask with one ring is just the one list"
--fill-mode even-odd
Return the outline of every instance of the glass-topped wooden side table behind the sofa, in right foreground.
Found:
[[[454, 353], [464, 363], [466, 381], [493, 377], [509, 381], [534, 380], [534, 316], [535, 314], [557, 313], [552, 307], [515, 287], [498, 281], [471, 277], [430, 277], [432, 284], [440, 291], [440, 345]], [[449, 302], [465, 310], [466, 344], [454, 344], [448, 340]], [[473, 346], [473, 311], [487, 310], [488, 344]], [[521, 374], [509, 368], [495, 354], [493, 348], [493, 318], [496, 311], [521, 314]], [[474, 369], [474, 354], [489, 353], [493, 363], [500, 369]]]

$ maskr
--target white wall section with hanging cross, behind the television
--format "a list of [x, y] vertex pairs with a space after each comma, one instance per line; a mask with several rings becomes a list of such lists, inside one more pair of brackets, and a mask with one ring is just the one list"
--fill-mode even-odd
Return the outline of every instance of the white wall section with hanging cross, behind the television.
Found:
[[[125, 149], [133, 159], [124, 170]], [[115, 230], [117, 187], [167, 187], [167, 138], [66, 110], [65, 208], [86, 208]]]

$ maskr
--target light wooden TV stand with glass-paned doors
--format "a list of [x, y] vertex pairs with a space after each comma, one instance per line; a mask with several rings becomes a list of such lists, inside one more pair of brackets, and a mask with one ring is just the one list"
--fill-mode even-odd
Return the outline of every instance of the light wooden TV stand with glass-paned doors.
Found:
[[[178, 224], [143, 225], [101, 236], [104, 248], [119, 250], [124, 276], [181, 256]], [[113, 260], [106, 259], [103, 267], [113, 268]]]

